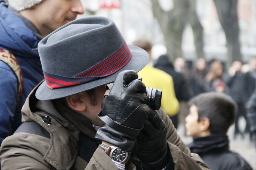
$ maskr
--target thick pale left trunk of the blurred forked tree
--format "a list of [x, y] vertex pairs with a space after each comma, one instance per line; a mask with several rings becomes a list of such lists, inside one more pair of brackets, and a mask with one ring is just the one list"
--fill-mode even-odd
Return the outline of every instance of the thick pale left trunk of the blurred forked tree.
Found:
[[163, 11], [157, 0], [151, 0], [154, 16], [157, 18], [163, 31], [167, 54], [171, 60], [182, 55], [182, 35], [188, 22], [188, 0], [174, 0], [174, 8]]

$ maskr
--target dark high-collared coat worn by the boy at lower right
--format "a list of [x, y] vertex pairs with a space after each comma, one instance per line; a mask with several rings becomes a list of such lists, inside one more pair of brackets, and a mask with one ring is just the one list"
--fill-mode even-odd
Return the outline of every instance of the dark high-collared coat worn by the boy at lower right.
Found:
[[229, 150], [226, 135], [196, 137], [188, 147], [192, 152], [197, 153], [211, 169], [252, 170], [239, 154]]

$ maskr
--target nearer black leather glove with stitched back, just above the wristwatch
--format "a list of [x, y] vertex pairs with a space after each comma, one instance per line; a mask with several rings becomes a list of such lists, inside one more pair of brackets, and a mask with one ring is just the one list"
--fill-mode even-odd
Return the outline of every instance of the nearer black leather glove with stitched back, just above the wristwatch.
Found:
[[138, 74], [133, 70], [118, 74], [109, 95], [104, 96], [101, 103], [99, 117], [103, 126], [95, 136], [127, 152], [132, 151], [150, 113], [150, 108], [144, 104], [147, 100], [146, 87], [137, 78]]

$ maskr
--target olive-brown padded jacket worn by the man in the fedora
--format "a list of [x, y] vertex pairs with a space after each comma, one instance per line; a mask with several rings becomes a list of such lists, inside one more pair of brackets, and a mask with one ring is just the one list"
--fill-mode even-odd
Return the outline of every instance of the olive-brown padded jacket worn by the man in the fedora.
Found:
[[[78, 119], [81, 121], [76, 122], [71, 113], [56, 110], [51, 100], [37, 100], [37, 87], [31, 91], [22, 108], [22, 121], [36, 122], [47, 131], [48, 137], [35, 131], [36, 127], [7, 137], [0, 148], [1, 169], [118, 170], [104, 150], [96, 146], [100, 141], [94, 139], [96, 132], [88, 119], [80, 115]], [[167, 143], [175, 169], [209, 169], [197, 154], [191, 153], [186, 147], [165, 111], [160, 109], [158, 113], [168, 128]], [[45, 115], [51, 117], [51, 124], [42, 121]], [[84, 137], [87, 138], [86, 143], [83, 142]], [[81, 153], [83, 156], [80, 156]], [[136, 169], [131, 161], [125, 166], [126, 170]]]

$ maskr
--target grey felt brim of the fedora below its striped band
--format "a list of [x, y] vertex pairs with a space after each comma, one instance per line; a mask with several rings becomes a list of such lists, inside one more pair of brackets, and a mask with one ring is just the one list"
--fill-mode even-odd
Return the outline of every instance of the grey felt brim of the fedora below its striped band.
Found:
[[142, 70], [148, 63], [148, 53], [139, 47], [136, 47], [133, 45], [128, 45], [128, 46], [132, 52], [132, 58], [123, 68], [121, 68], [119, 71], [115, 72], [114, 74], [98, 80], [88, 82], [88, 83], [83, 83], [83, 84], [68, 86], [63, 88], [56, 88], [56, 89], [50, 89], [47, 86], [46, 81], [44, 81], [36, 90], [36, 98], [39, 100], [52, 100], [52, 99], [66, 97], [69, 95], [79, 93], [81, 91], [86, 91], [104, 84], [111, 83], [116, 79], [116, 76], [121, 71], [134, 70], [138, 72]]

